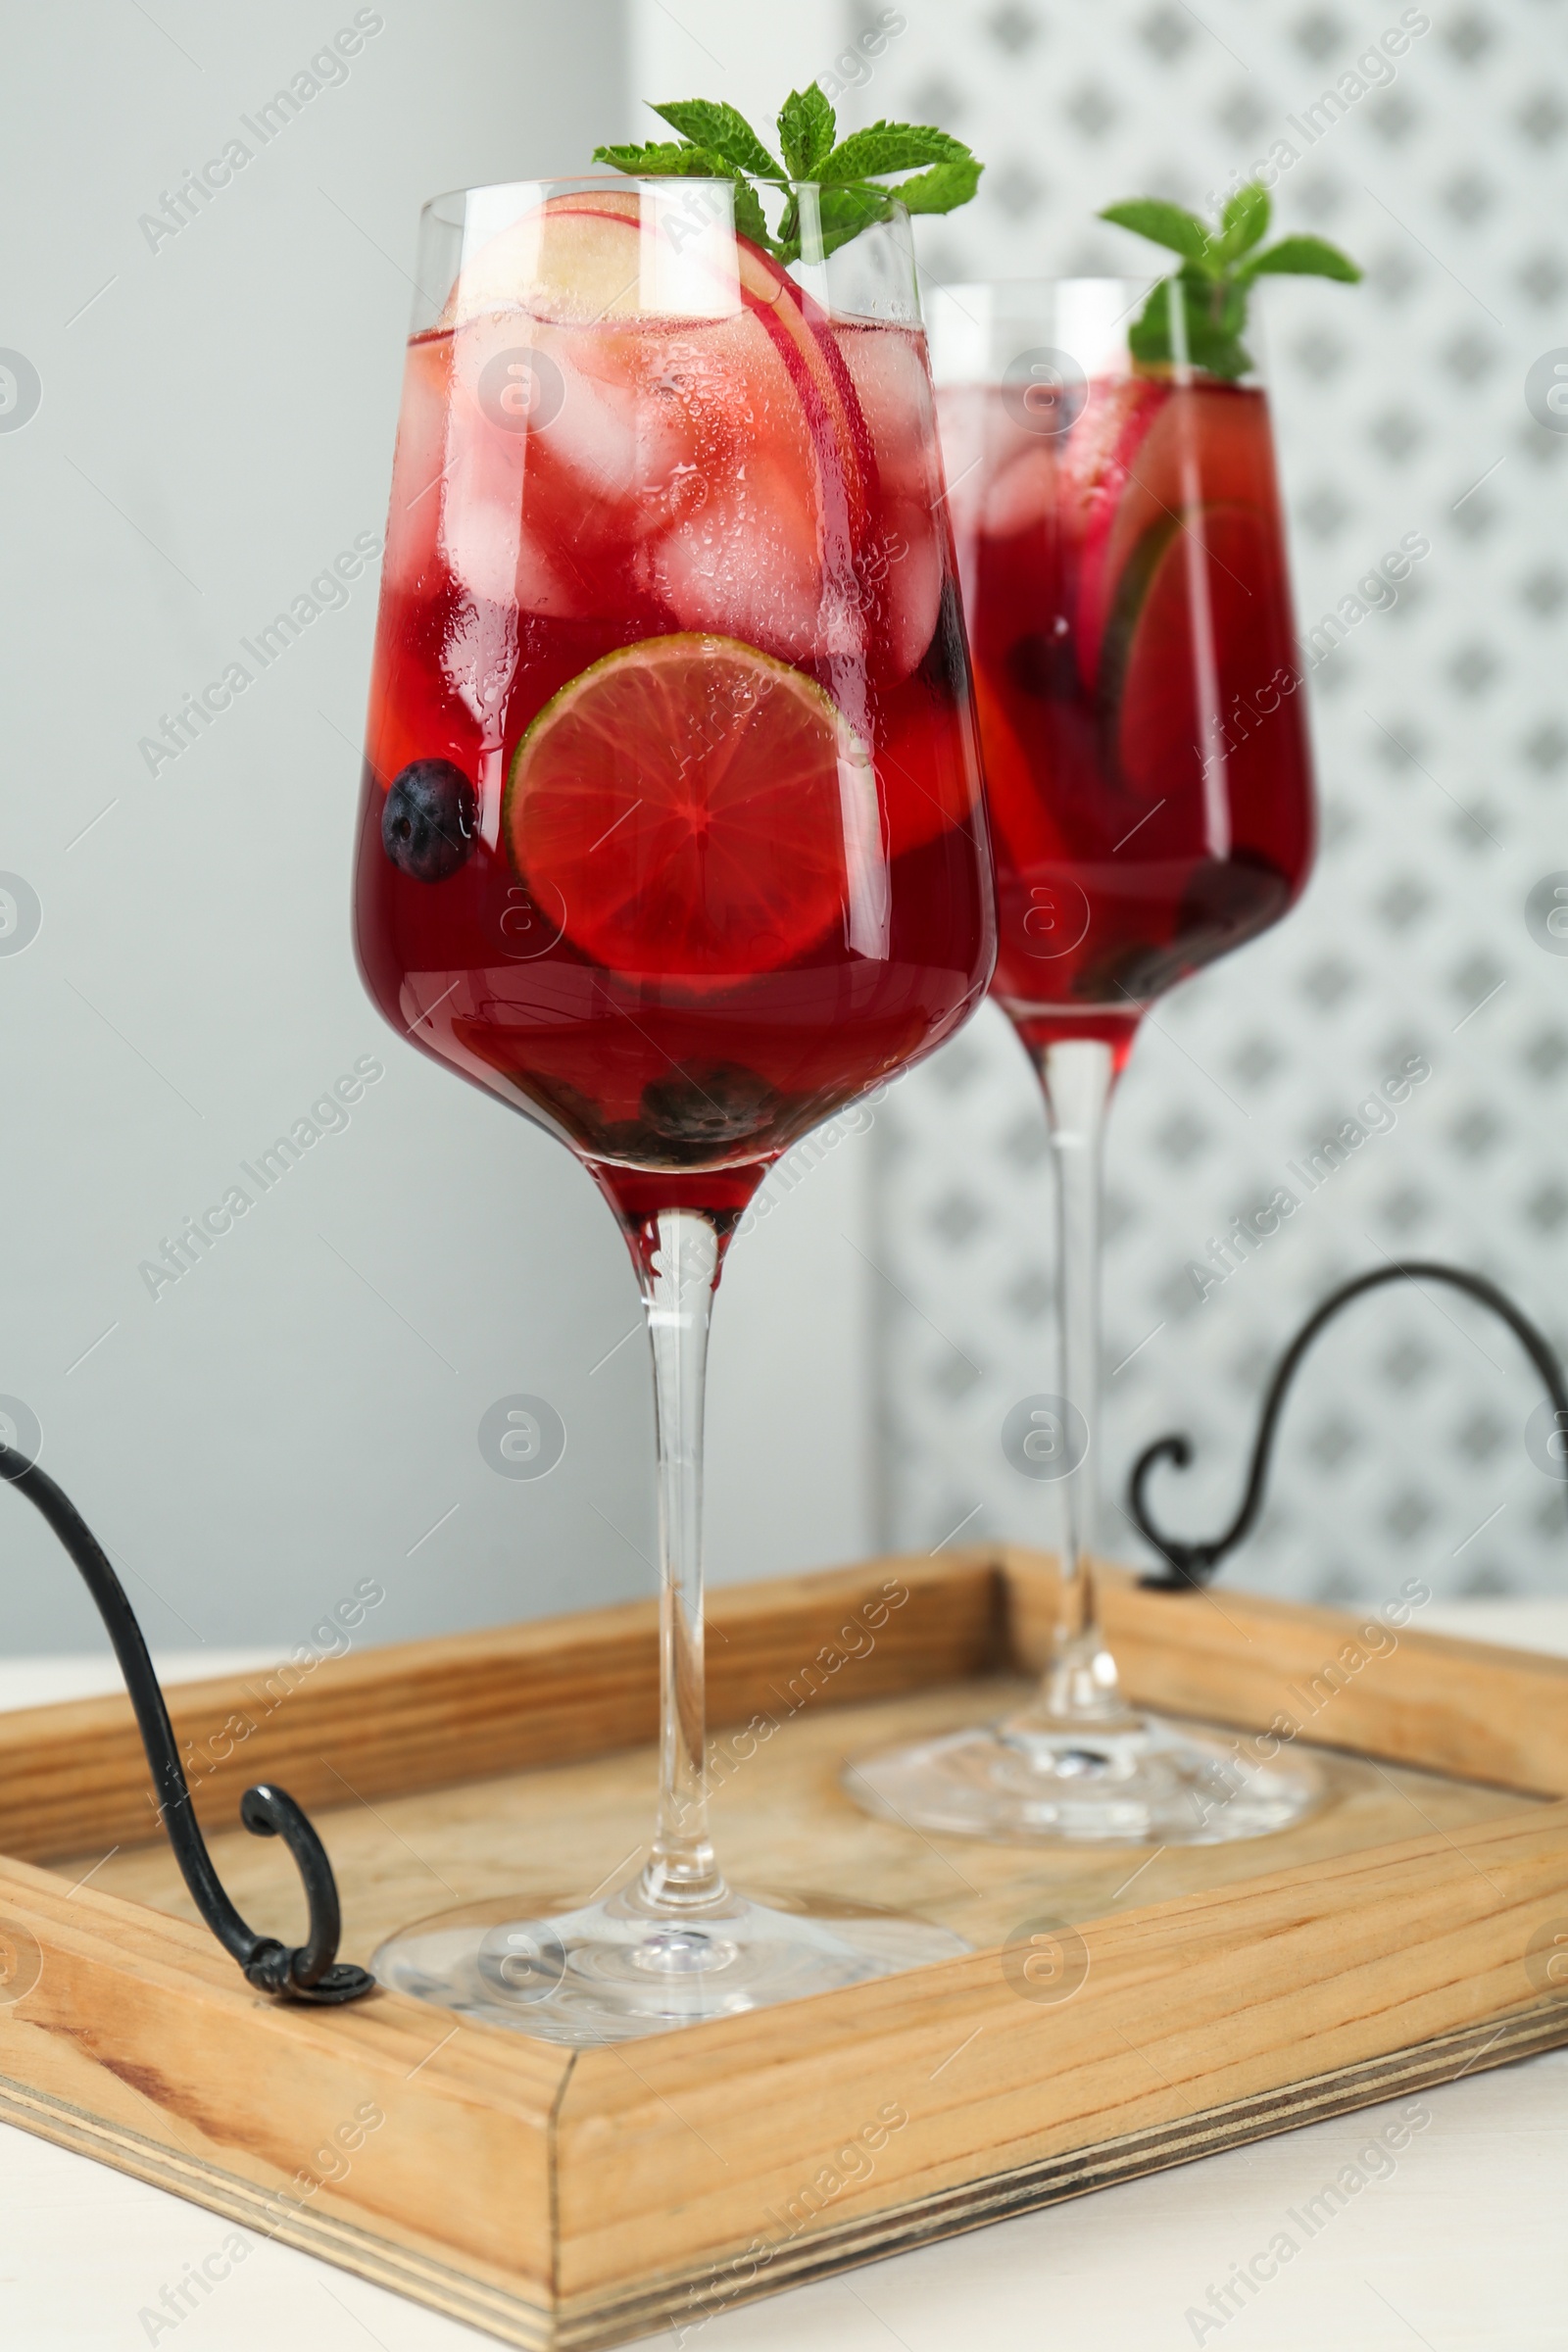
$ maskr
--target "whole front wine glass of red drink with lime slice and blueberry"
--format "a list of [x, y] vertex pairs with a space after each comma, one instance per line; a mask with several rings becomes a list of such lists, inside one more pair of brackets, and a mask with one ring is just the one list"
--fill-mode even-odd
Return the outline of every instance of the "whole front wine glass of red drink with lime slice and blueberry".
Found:
[[[555, 2042], [966, 1945], [733, 1893], [703, 1788], [703, 1367], [741, 1214], [983, 997], [994, 901], [910, 223], [804, 259], [736, 188], [425, 207], [355, 936], [421, 1051], [567, 1143], [630, 1244], [658, 1425], [649, 1858], [552, 1917], [423, 1922], [404, 1992]], [[510, 1432], [527, 1449], [527, 1428]]]

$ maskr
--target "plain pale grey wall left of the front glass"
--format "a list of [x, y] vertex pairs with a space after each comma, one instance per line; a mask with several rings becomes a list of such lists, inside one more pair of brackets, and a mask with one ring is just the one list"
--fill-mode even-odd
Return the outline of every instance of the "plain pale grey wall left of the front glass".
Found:
[[[609, 1216], [353, 969], [374, 567], [179, 760], [139, 755], [381, 532], [418, 205], [616, 136], [621, 9], [397, 0], [266, 148], [240, 118], [353, 5], [155, 14], [7, 16], [0, 346], [42, 402], [0, 412], [0, 868], [42, 927], [0, 953], [0, 1392], [167, 1644], [303, 1639], [362, 1576], [378, 1639], [639, 1592], [642, 1343], [592, 1371], [635, 1317]], [[153, 247], [139, 216], [233, 136], [252, 160]], [[139, 1261], [364, 1054], [353, 1124], [148, 1296]], [[512, 1390], [567, 1423], [548, 1479], [480, 1458]], [[0, 1646], [99, 1639], [19, 1501], [0, 1545]]]

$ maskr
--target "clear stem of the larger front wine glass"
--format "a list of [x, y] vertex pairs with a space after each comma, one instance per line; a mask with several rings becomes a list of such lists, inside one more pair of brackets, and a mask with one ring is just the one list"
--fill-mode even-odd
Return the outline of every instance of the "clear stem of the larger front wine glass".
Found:
[[658, 1432], [658, 1828], [639, 1903], [696, 1912], [729, 1889], [708, 1837], [703, 1693], [703, 1392], [719, 1235], [701, 1209], [663, 1209], [639, 1256]]

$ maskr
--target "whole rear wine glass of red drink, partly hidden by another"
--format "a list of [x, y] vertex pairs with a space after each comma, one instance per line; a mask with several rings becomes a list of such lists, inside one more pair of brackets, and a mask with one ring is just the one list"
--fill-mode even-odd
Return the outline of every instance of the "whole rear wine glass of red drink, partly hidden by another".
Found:
[[1095, 1611], [1100, 1143], [1150, 1002], [1291, 908], [1312, 764], [1260, 381], [1140, 365], [1166, 289], [969, 285], [929, 299], [997, 858], [992, 993], [1046, 1098], [1060, 1392], [1004, 1430], [1058, 1482], [1060, 1618], [1011, 1719], [849, 1771], [875, 1811], [1004, 1842], [1218, 1844], [1302, 1818], [1305, 1759], [1246, 1762], [1126, 1703]]

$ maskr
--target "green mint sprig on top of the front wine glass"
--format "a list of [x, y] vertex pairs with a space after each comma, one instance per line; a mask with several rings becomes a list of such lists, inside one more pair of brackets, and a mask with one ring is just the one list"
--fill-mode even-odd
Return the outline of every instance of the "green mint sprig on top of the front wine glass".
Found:
[[[820, 188], [820, 247], [811, 240], [816, 261], [818, 252], [825, 259], [872, 221], [886, 221], [893, 198], [910, 212], [954, 212], [976, 193], [985, 169], [961, 139], [929, 122], [872, 122], [870, 129], [839, 139], [832, 103], [816, 82], [792, 89], [778, 108], [783, 162], [733, 106], [677, 99], [651, 111], [677, 132], [675, 141], [602, 146], [592, 151], [595, 162], [635, 179], [733, 179], [736, 228], [785, 263], [802, 256], [795, 181], [816, 181]], [[783, 200], [773, 228], [759, 188], [771, 188]]]

